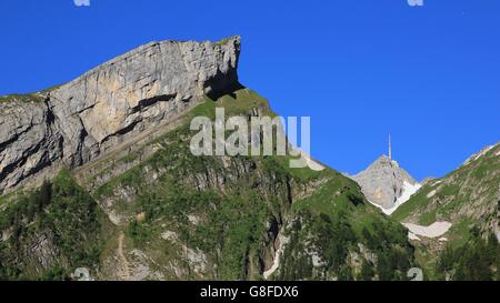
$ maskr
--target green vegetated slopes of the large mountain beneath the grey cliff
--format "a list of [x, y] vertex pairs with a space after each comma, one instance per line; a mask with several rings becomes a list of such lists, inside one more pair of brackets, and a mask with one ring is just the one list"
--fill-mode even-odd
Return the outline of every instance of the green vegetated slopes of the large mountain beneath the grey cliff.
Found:
[[[227, 115], [274, 115], [248, 89], [207, 99], [190, 114], [213, 119], [217, 107]], [[2, 277], [66, 279], [74, 266], [100, 267], [109, 246], [104, 235], [119, 229], [126, 236], [123, 255], [147, 255], [153, 262], [141, 265], [164, 279], [260, 280], [272, 263], [278, 234], [290, 242], [271, 279], [407, 279], [414, 262], [406, 230], [367, 203], [353, 181], [330, 169], [290, 169], [290, 156], [194, 156], [191, 135], [183, 124], [156, 139], [153, 154], [91, 195], [68, 172], [20, 195], [6, 210], [12, 214], [3, 231], [19, 225], [21, 232], [1, 242]], [[128, 156], [137, 159], [138, 152]], [[41, 199], [50, 201], [42, 203], [44, 214], [31, 214], [32, 206], [26, 205], [39, 205], [32, 201], [48, 189], [50, 199]], [[120, 225], [110, 228], [97, 205], [121, 218]], [[46, 214], [50, 224], [38, 229], [31, 223], [46, 222], [37, 219]], [[54, 239], [49, 266], [14, 257], [14, 245], [26, 248], [31, 234], [39, 238], [44, 231]]]

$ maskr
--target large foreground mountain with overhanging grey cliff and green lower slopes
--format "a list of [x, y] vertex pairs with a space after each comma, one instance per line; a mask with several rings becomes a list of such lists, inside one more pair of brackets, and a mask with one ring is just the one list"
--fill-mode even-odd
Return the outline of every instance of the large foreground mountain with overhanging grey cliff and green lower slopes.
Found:
[[194, 117], [276, 115], [239, 87], [238, 53], [239, 38], [152, 43], [1, 99], [2, 186], [29, 186], [0, 196], [0, 280], [81, 267], [96, 280], [406, 280], [407, 230], [352, 180], [288, 155], [191, 153]]

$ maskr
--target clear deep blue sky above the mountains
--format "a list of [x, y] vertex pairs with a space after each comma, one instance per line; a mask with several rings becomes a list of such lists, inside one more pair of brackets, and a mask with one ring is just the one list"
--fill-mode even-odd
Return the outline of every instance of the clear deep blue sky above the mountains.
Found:
[[151, 40], [242, 37], [241, 82], [310, 115], [312, 154], [386, 153], [440, 176], [500, 140], [500, 1], [2, 0], [0, 94], [69, 81]]

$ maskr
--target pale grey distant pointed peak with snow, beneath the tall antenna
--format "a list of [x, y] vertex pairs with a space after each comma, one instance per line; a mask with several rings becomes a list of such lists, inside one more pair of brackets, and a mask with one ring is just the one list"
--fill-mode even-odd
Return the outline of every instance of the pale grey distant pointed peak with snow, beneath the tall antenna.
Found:
[[367, 199], [387, 214], [407, 202], [421, 185], [399, 163], [382, 155], [352, 179]]

